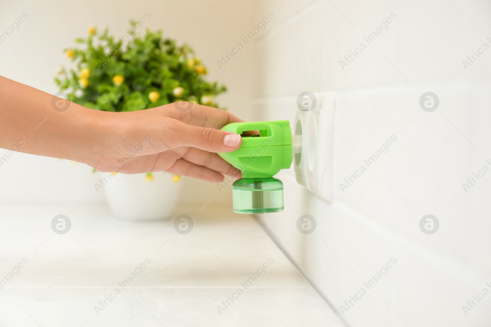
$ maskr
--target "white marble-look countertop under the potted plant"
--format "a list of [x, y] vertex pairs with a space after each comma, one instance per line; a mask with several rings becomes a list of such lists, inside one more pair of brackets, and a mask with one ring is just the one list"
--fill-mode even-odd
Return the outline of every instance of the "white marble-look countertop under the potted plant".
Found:
[[[57, 214], [71, 220], [64, 235], [51, 229]], [[174, 219], [123, 222], [106, 207], [1, 205], [0, 326], [343, 326], [252, 216], [213, 206], [179, 214], [193, 218], [190, 234]]]

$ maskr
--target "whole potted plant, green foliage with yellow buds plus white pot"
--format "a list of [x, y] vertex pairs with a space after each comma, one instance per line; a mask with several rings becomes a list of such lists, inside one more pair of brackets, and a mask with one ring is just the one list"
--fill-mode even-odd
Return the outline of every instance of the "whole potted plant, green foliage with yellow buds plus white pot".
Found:
[[[210, 83], [207, 69], [188, 45], [164, 39], [161, 31], [135, 34], [135, 22], [117, 40], [94, 27], [78, 38], [81, 47], [66, 49], [72, 68], [55, 77], [69, 100], [88, 108], [121, 112], [144, 110], [177, 101], [218, 108], [214, 98], [225, 86]], [[128, 38], [127, 36], [131, 37]], [[109, 207], [119, 218], [155, 220], [169, 217], [179, 198], [180, 176], [167, 173], [111, 173], [103, 188]], [[109, 180], [109, 181], [108, 181]]]

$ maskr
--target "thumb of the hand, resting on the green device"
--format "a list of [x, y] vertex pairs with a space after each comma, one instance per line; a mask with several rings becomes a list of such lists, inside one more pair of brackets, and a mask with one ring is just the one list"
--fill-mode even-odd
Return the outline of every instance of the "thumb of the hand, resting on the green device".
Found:
[[237, 150], [242, 144], [239, 134], [211, 127], [192, 126], [175, 121], [176, 133], [171, 147], [193, 147], [210, 152]]

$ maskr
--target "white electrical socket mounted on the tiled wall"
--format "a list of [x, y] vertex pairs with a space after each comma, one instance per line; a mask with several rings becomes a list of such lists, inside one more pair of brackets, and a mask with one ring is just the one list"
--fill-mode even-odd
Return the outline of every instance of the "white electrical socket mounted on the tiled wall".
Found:
[[334, 94], [316, 95], [317, 106], [299, 110], [293, 126], [297, 182], [327, 201], [332, 199]]

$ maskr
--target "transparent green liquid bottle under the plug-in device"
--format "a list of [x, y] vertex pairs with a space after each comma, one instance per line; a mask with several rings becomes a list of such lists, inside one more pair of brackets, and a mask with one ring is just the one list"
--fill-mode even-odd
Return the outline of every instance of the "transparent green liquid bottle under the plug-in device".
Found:
[[267, 213], [284, 209], [283, 183], [266, 178], [242, 178], [232, 185], [234, 212]]

